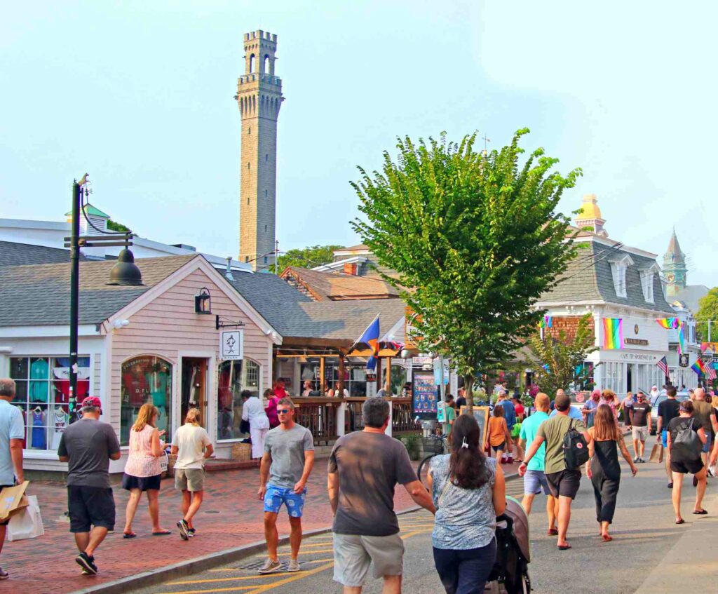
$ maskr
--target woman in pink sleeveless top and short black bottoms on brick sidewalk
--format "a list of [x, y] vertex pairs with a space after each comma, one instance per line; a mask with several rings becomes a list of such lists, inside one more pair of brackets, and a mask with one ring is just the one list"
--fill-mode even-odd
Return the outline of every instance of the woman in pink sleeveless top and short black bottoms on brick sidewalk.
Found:
[[142, 492], [147, 493], [149, 517], [152, 521], [152, 536], [172, 534], [159, 525], [159, 481], [162, 470], [159, 469], [159, 458], [164, 455], [164, 442], [159, 438], [165, 431], [155, 427], [159, 411], [154, 404], [143, 404], [137, 420], [130, 430], [130, 453], [122, 475], [122, 487], [130, 492], [125, 512], [125, 529], [123, 538], [134, 538], [132, 520]]

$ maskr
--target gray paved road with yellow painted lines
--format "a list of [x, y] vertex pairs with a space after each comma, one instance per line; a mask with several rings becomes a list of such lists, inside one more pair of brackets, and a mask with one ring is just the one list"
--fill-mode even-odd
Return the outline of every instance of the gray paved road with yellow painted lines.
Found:
[[[619, 493], [618, 509], [612, 534], [615, 540], [603, 543], [597, 537], [593, 492], [587, 479], [582, 480], [569, 540], [573, 548], [560, 552], [555, 537], [544, 536], [546, 518], [544, 499], [537, 498], [531, 514], [531, 550], [533, 560], [529, 566], [534, 593], [563, 594], [571, 592], [627, 594], [634, 593], [671, 551], [677, 539], [686, 531], [701, 529], [701, 518], [690, 514], [694, 489], [686, 481], [684, 493], [691, 500], [684, 504], [686, 524], [673, 524], [670, 493], [661, 467], [645, 463], [639, 465], [639, 475], [630, 478], [623, 466], [623, 483]], [[705, 501], [706, 509], [718, 514], [718, 481], [712, 479]], [[519, 496], [523, 483], [519, 479], [508, 483], [508, 492]], [[401, 516], [401, 533], [406, 544], [405, 587], [411, 594], [437, 594], [442, 592], [434, 571], [431, 549], [432, 517], [420, 511]], [[286, 547], [280, 554], [287, 557]], [[675, 554], [675, 552], [673, 552]], [[686, 552], [689, 554], [689, 552]], [[666, 557], [668, 559], [670, 557]], [[317, 594], [340, 592], [332, 582], [331, 535], [307, 539], [300, 553], [302, 572], [258, 576], [255, 567], [261, 556], [251, 557], [233, 565], [217, 567], [207, 572], [184, 577], [182, 580], [136, 590], [136, 594]], [[656, 575], [653, 575], [655, 580]], [[371, 581], [364, 590], [381, 592], [381, 583]]]

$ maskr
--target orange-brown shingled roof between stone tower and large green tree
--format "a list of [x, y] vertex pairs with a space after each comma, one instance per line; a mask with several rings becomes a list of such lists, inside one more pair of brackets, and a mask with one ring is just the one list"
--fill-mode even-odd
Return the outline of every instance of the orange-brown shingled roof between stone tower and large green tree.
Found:
[[320, 272], [297, 266], [287, 266], [281, 273], [281, 277], [294, 279], [318, 301], [398, 297], [398, 292], [391, 284], [381, 279], [358, 277], [355, 274]]

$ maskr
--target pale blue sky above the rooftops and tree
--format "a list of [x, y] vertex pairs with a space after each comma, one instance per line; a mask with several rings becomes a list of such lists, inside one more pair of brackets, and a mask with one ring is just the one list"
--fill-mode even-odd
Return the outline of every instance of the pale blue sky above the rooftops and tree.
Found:
[[[350, 180], [396, 138], [528, 127], [561, 200], [595, 193], [610, 237], [718, 284], [718, 3], [33, 1], [0, 19], [0, 218], [59, 221], [73, 178], [140, 236], [238, 253], [243, 34], [278, 37], [279, 249], [359, 243]], [[708, 176], [708, 177], [706, 177]]]

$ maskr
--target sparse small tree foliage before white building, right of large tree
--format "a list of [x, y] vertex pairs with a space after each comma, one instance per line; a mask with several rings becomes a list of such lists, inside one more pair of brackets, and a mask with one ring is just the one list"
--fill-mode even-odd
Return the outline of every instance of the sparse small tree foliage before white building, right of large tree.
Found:
[[593, 335], [593, 317], [584, 315], [578, 323], [574, 338], [567, 338], [564, 330], [553, 338], [546, 330], [544, 338], [537, 331], [528, 340], [531, 363], [535, 366], [536, 384], [541, 391], [553, 396], [559, 388], [567, 390], [571, 384], [582, 384], [589, 370], [583, 362], [589, 353], [597, 350]]

